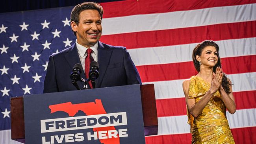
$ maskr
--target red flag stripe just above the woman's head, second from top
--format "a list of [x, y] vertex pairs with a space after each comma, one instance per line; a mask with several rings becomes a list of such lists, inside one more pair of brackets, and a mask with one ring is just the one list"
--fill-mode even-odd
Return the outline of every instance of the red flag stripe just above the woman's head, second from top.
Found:
[[141, 31], [102, 35], [101, 42], [127, 49], [199, 43], [206, 39], [220, 41], [256, 37], [256, 21], [215, 24], [171, 30]]

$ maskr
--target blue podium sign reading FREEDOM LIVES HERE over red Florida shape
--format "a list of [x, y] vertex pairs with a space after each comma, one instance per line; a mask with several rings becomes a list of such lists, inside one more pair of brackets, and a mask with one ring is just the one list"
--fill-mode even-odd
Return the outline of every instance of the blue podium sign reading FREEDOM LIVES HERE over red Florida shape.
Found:
[[26, 144], [145, 144], [139, 85], [24, 96]]

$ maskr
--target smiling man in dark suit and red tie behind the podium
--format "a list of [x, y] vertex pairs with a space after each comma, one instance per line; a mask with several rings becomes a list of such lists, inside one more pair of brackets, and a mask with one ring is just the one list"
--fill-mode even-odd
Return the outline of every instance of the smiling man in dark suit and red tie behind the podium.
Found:
[[[74, 7], [70, 25], [76, 35], [76, 43], [58, 54], [50, 55], [44, 93], [76, 90], [70, 79], [72, 68], [76, 63], [81, 63], [82, 77], [85, 77], [85, 72], [88, 73], [86, 61], [89, 58], [99, 64], [100, 75], [96, 79], [96, 88], [141, 84], [137, 69], [126, 48], [99, 41], [102, 33], [102, 15], [102, 7], [93, 2]], [[84, 83], [78, 81], [78, 85], [82, 88]]]

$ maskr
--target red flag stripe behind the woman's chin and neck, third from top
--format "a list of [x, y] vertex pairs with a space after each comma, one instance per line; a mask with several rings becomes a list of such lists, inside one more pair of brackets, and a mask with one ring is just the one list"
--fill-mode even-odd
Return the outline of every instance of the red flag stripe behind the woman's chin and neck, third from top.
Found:
[[[236, 61], [236, 65], [233, 65]], [[221, 59], [226, 74], [256, 72], [256, 55], [226, 57]], [[136, 66], [142, 82], [187, 79], [197, 75], [193, 62], [169, 63], [161, 65]], [[186, 71], [184, 71], [186, 70]]]

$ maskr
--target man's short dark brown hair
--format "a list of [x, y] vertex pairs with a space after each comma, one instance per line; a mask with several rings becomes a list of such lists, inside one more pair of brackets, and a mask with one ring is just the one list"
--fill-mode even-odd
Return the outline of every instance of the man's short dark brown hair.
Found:
[[[93, 9], [93, 10], [97, 10], [100, 14], [100, 17], [102, 19], [102, 15], [103, 15], [103, 8], [102, 6], [100, 6], [100, 4], [97, 4], [95, 2], [83, 2], [82, 4], [78, 4], [76, 5], [72, 11], [71, 11], [71, 15], [70, 15], [70, 21], [74, 21], [76, 23], [76, 25], [79, 24], [79, 15], [82, 11], [87, 10], [87, 9]], [[73, 30], [72, 30], [73, 31]], [[76, 32], [74, 32], [74, 35], [76, 35]]]

